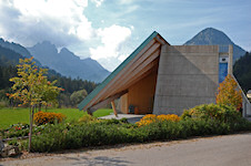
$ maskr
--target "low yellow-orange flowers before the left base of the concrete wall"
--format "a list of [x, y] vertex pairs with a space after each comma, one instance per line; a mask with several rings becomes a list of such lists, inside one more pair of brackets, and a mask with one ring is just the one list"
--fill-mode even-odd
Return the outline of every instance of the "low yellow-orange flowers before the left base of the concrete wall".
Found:
[[154, 122], [163, 122], [163, 121], [172, 121], [172, 122], [179, 122], [180, 117], [174, 114], [168, 114], [168, 115], [153, 115], [153, 114], [148, 114], [140, 120], [140, 122], [137, 122], [135, 124], [140, 126], [145, 126]]

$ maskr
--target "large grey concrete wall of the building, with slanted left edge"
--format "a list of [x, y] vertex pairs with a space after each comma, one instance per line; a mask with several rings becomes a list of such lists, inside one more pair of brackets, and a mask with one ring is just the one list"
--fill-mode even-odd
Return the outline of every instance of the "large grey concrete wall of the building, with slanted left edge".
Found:
[[218, 46], [162, 45], [153, 113], [181, 115], [184, 108], [214, 103], [218, 73]]

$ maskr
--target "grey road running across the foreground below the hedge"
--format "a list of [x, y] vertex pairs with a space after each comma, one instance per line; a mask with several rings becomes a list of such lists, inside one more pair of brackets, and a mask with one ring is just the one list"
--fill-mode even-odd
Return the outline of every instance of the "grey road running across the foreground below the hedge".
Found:
[[251, 133], [0, 162], [0, 166], [251, 166]]

